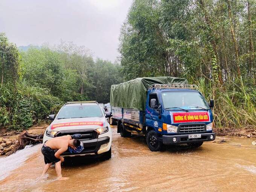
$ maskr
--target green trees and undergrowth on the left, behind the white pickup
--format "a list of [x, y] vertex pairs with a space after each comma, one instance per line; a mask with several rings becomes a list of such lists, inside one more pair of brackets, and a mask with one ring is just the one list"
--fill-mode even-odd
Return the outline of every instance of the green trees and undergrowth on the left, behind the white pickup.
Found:
[[0, 33], [0, 127], [29, 128], [67, 101], [109, 102], [110, 86], [122, 81], [119, 68], [73, 43], [20, 51]]

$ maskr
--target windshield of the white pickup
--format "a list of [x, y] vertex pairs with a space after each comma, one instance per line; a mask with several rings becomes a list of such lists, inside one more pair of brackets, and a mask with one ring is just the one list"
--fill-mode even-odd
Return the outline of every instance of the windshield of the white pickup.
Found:
[[101, 107], [98, 105], [66, 105], [59, 111], [57, 119], [102, 117]]

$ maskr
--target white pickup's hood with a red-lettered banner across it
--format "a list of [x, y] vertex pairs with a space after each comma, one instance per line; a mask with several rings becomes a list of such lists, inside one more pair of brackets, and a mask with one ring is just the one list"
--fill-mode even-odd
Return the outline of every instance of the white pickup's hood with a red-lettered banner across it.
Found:
[[48, 130], [82, 130], [82, 129], [96, 129], [107, 126], [105, 117], [85, 117], [72, 119], [55, 119], [49, 125]]

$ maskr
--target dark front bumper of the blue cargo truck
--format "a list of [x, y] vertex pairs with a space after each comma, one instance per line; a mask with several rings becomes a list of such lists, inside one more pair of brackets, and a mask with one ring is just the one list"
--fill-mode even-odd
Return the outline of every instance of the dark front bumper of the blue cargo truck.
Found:
[[[189, 139], [189, 135], [201, 134], [201, 138]], [[213, 136], [211, 139], [210, 137]], [[173, 141], [173, 138], [176, 138], [176, 142]], [[205, 141], [215, 140], [215, 133], [191, 133], [191, 134], [181, 134], [181, 135], [163, 135], [163, 144], [165, 145], [174, 145], [174, 144], [183, 144], [183, 143], [198, 143]]]

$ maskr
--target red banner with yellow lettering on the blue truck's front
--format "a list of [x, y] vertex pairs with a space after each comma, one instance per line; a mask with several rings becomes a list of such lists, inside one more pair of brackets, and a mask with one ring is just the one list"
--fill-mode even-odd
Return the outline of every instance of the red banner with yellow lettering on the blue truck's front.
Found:
[[208, 111], [172, 113], [173, 123], [209, 122]]

